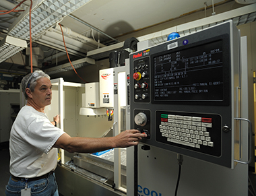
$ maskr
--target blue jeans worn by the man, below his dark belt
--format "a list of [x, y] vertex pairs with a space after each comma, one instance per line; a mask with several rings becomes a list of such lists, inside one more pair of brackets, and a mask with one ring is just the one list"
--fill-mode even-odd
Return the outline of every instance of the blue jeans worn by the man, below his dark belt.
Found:
[[[26, 182], [15, 182], [9, 178], [8, 185], [5, 187], [6, 196], [20, 196], [21, 189], [25, 189]], [[37, 181], [28, 181], [28, 188], [31, 188], [32, 196], [59, 196], [58, 186], [53, 173], [47, 178], [42, 178]]]

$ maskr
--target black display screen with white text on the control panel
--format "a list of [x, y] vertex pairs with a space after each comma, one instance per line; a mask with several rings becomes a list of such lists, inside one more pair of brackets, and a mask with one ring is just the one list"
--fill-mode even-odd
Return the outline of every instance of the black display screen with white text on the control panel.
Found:
[[153, 100], [223, 101], [222, 39], [152, 57]]

